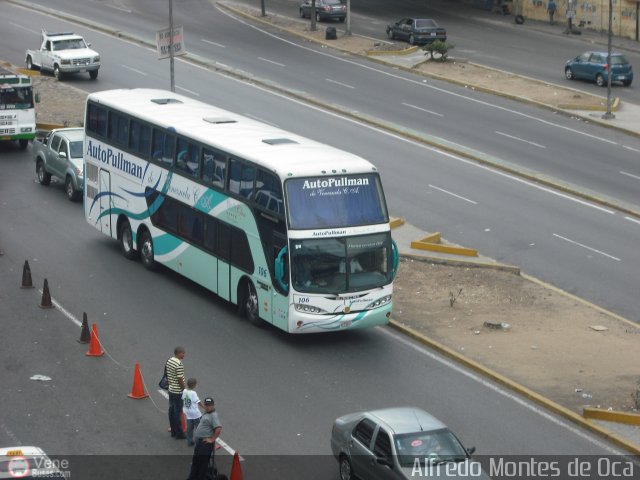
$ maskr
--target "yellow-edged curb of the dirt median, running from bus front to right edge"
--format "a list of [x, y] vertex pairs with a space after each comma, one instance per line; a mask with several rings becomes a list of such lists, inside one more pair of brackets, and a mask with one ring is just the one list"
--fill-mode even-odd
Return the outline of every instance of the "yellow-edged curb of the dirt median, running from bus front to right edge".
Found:
[[389, 325], [394, 328], [395, 330], [403, 333], [404, 335], [412, 338], [413, 340], [418, 341], [419, 343], [426, 345], [427, 347], [431, 348], [432, 350], [435, 350], [437, 352], [439, 352], [440, 354], [444, 355], [447, 358], [450, 358], [452, 360], [455, 360], [457, 363], [460, 363], [462, 365], [464, 365], [467, 368], [470, 368], [473, 371], [476, 371], [478, 373], [480, 373], [481, 375], [492, 379], [493, 381], [495, 381], [496, 383], [509, 388], [510, 390], [513, 390], [517, 393], [519, 393], [520, 395], [522, 395], [523, 397], [533, 401], [534, 403], [537, 403], [538, 405], [543, 406], [544, 408], [546, 408], [547, 410], [560, 415], [561, 417], [564, 417], [565, 419], [583, 427], [586, 430], [589, 430], [592, 433], [596, 433], [604, 438], [606, 438], [607, 440], [609, 440], [611, 443], [617, 445], [618, 447], [624, 448], [625, 450], [628, 450], [629, 452], [635, 454], [635, 455], [640, 455], [640, 447], [638, 445], [635, 445], [629, 441], [627, 441], [626, 439], [624, 439], [623, 437], [612, 433], [598, 425], [595, 425], [591, 422], [588, 422], [587, 420], [585, 420], [583, 417], [581, 417], [580, 415], [578, 415], [577, 413], [569, 410], [568, 408], [565, 408], [561, 405], [559, 405], [558, 403], [534, 392], [533, 390], [531, 390], [530, 388], [525, 387], [524, 385], [519, 384], [518, 382], [515, 382], [507, 377], [505, 377], [504, 375], [495, 372], [494, 370], [491, 370], [487, 367], [485, 367], [484, 365], [481, 365], [480, 363], [476, 362], [475, 360], [472, 360], [468, 357], [465, 357], [464, 355], [459, 354], [458, 352], [456, 352], [455, 350], [427, 337], [426, 335], [412, 329], [411, 327], [408, 327], [404, 324], [401, 324], [393, 319], [389, 320]]

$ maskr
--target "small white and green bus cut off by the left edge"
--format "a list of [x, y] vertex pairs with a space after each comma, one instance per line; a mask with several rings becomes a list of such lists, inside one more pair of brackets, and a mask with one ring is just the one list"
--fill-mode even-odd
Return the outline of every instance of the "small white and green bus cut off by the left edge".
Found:
[[31, 77], [0, 67], [0, 140], [17, 140], [27, 148], [36, 137]]

